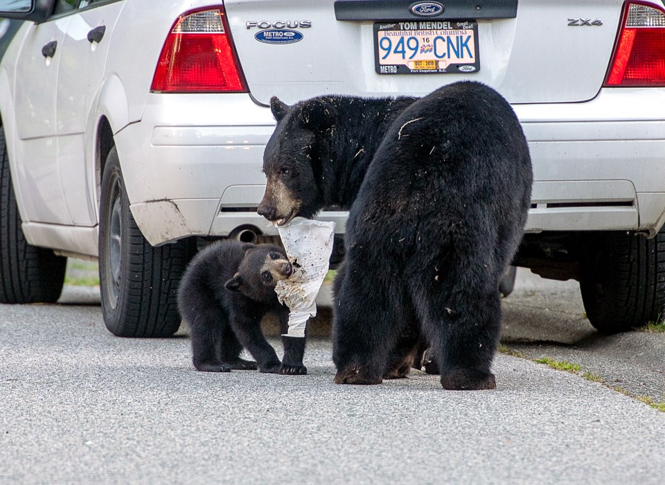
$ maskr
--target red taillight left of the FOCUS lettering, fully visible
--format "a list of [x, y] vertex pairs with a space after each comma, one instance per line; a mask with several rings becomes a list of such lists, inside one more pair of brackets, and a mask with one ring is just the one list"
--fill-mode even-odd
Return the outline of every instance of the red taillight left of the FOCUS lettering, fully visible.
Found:
[[150, 89], [247, 92], [225, 17], [222, 7], [181, 15], [166, 37]]

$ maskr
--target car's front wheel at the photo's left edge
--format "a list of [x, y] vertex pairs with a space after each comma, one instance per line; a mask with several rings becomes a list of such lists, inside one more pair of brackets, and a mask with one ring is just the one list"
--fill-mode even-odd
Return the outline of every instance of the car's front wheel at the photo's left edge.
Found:
[[0, 127], [0, 303], [55, 303], [67, 258], [26, 242]]

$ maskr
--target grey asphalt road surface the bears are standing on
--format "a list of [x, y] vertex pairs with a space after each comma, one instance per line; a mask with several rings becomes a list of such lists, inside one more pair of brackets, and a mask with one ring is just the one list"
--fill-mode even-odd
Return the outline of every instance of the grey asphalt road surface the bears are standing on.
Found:
[[[613, 342], [594, 340], [581, 310], [560, 315], [549, 303], [562, 290], [529, 289], [531, 280], [520, 274], [504, 301], [508, 346], [610, 360]], [[200, 373], [186, 328], [168, 340], [113, 337], [97, 302], [94, 290], [66, 287], [58, 305], [0, 306], [0, 483], [661, 484], [665, 476], [665, 413], [526, 358], [497, 355], [495, 391], [443, 391], [424, 374], [334, 385], [325, 336], [308, 346], [308, 376]], [[325, 321], [318, 326], [325, 335]], [[665, 346], [662, 334], [628, 335]]]

